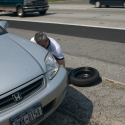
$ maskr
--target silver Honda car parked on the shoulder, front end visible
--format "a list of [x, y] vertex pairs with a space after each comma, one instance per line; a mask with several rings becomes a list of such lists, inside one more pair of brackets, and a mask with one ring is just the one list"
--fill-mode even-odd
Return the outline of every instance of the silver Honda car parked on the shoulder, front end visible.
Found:
[[0, 21], [0, 125], [38, 124], [62, 102], [67, 71], [41, 46]]

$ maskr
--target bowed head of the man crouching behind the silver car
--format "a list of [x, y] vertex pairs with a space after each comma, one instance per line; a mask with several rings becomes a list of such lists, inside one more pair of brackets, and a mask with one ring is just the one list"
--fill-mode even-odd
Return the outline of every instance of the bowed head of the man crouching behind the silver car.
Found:
[[48, 39], [46, 33], [38, 32], [35, 34], [34, 39], [35, 39], [37, 44], [39, 44], [40, 46], [42, 46], [44, 48], [47, 48], [47, 46], [49, 44], [49, 39]]

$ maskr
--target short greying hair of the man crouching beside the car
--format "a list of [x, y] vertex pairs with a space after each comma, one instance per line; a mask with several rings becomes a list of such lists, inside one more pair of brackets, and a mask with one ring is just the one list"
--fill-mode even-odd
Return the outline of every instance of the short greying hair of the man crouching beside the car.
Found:
[[35, 41], [37, 43], [39, 43], [39, 42], [45, 42], [45, 41], [47, 41], [48, 38], [47, 38], [46, 33], [44, 33], [44, 32], [38, 32], [38, 33], [35, 34], [34, 39], [35, 39]]

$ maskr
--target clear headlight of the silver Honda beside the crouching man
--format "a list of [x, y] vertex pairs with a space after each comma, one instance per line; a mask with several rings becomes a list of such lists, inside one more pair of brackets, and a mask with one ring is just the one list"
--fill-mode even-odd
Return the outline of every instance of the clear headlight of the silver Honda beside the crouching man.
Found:
[[47, 68], [48, 78], [52, 79], [58, 72], [59, 65], [50, 53], [48, 53], [48, 55], [45, 58], [45, 64]]

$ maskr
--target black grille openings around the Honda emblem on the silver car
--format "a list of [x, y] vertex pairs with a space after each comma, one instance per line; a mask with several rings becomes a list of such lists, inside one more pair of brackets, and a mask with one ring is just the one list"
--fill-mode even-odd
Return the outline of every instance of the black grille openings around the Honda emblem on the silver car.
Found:
[[[18, 92], [21, 94], [23, 99], [25, 99], [29, 97], [31, 94], [35, 93], [42, 85], [43, 85], [43, 78], [19, 90]], [[17, 102], [13, 100], [12, 95], [9, 95], [0, 100], [0, 110], [13, 106], [14, 104], [17, 104]]]

